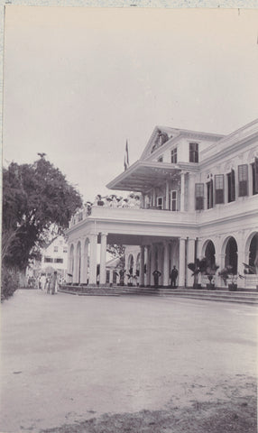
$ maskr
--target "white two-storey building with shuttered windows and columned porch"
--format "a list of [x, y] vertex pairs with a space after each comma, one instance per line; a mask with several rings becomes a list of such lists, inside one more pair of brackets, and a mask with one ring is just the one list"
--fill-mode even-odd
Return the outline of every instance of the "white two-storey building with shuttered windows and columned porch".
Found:
[[[139, 270], [140, 285], [153, 285], [157, 269], [168, 286], [176, 265], [179, 286], [192, 286], [187, 264], [204, 256], [220, 269], [231, 265], [236, 276], [247, 263], [254, 272], [238, 286], [258, 283], [258, 120], [226, 136], [157, 126], [140, 160], [107, 188], [140, 193], [141, 207], [93, 206], [72, 218], [74, 283], [97, 283], [97, 244], [100, 284], [106, 283], [106, 244], [138, 245], [140, 255], [129, 246], [125, 267]], [[224, 282], [217, 277], [216, 284]]]

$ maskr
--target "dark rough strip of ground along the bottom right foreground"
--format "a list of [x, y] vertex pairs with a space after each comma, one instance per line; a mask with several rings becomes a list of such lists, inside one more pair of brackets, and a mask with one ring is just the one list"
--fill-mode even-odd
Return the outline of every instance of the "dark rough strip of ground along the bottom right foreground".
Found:
[[198, 403], [189, 408], [105, 414], [42, 433], [256, 433], [256, 399]]

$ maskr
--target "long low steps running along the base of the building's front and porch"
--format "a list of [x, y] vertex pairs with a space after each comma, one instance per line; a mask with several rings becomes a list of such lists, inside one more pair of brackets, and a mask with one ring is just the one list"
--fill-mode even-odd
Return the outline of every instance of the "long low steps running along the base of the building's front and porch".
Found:
[[156, 296], [258, 305], [257, 291], [193, 290], [129, 286], [62, 286], [61, 292], [79, 296]]

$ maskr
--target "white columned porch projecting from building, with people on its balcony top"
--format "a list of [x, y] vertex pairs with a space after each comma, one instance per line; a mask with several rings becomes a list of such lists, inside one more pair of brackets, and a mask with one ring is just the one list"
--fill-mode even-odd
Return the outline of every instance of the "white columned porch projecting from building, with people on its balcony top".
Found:
[[[110, 219], [103, 215], [100, 217], [103, 214], [101, 211], [105, 210], [109, 211], [108, 214], [110, 211], [116, 214], [116, 218], [115, 215]], [[186, 222], [182, 229], [181, 218], [175, 218], [172, 224], [170, 219], [170, 222], [163, 225], [157, 224], [156, 218], [149, 221], [145, 218], [134, 219], [136, 210], [133, 212], [133, 218], [124, 218], [127, 212], [122, 212], [123, 218], [120, 219], [117, 216], [117, 211], [120, 210], [132, 215], [132, 209], [97, 209], [99, 217], [93, 212], [87, 220], [69, 228], [69, 282], [80, 285], [106, 285], [106, 245], [121, 244], [131, 245], [137, 254], [133, 271], [130, 271], [132, 265], [129, 263], [128, 254], [125, 257], [124, 284], [129, 282], [128, 274], [133, 273], [134, 276], [137, 274], [134, 285], [152, 287], [153, 272], [158, 271], [161, 273], [159, 285], [169, 287], [170, 271], [175, 265], [179, 271], [177, 286], [191, 286], [193, 281], [187, 263], [195, 259], [195, 224]], [[138, 212], [141, 210], [137, 209]], [[119, 271], [117, 283], [121, 283]], [[114, 282], [114, 273], [110, 273], [112, 277], [109, 274], [109, 281], [111, 278]]]

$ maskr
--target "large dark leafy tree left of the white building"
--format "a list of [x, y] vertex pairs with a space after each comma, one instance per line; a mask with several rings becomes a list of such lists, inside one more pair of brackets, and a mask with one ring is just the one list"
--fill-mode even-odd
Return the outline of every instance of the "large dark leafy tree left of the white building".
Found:
[[78, 191], [44, 154], [32, 164], [12, 162], [3, 171], [3, 263], [24, 270], [50, 228], [61, 233], [81, 206]]

